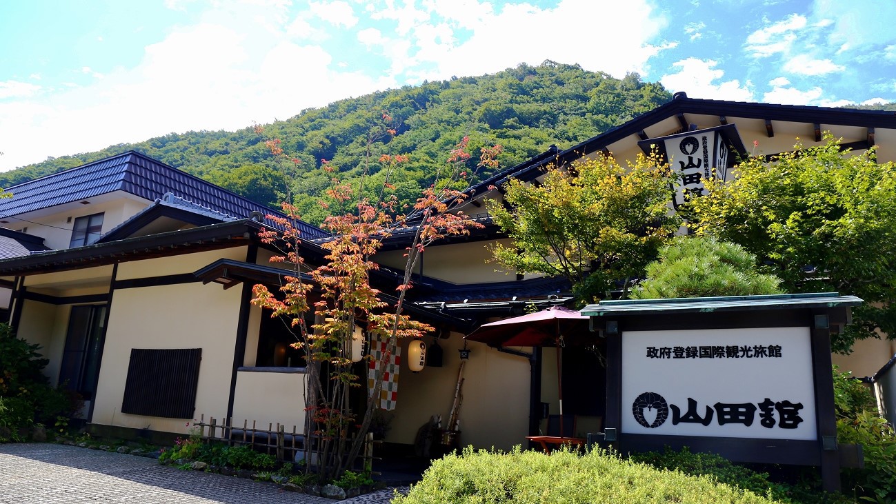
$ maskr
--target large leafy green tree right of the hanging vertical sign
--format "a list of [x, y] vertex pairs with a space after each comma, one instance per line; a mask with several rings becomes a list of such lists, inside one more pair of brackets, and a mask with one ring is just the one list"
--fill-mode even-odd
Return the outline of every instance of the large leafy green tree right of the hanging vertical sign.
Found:
[[768, 263], [786, 292], [839, 292], [865, 300], [831, 347], [896, 337], [896, 163], [874, 149], [844, 154], [830, 135], [772, 163], [746, 159], [727, 184], [707, 181], [691, 202], [700, 233], [739, 243]]

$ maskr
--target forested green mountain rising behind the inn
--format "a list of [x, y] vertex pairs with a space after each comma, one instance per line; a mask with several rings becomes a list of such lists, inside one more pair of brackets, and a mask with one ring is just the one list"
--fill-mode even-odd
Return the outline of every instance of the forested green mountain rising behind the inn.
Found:
[[[324, 209], [316, 202], [329, 184], [320, 169], [322, 159], [338, 167], [345, 180], [362, 173], [370, 132], [391, 115], [395, 135], [387, 146], [375, 144], [376, 161], [383, 149], [406, 154], [409, 162], [392, 175], [401, 201], [414, 201], [421, 186], [432, 183], [435, 169], [464, 136], [475, 167], [480, 147], [500, 143], [502, 167], [513, 166], [545, 151], [551, 144], [564, 149], [622, 124], [671, 98], [658, 83], [642, 82], [637, 74], [615, 79], [606, 73], [582, 70], [579, 65], [546, 61], [520, 64], [504, 72], [449, 81], [425, 82], [399, 90], [380, 91], [307, 109], [286, 121], [265, 126], [262, 135], [247, 126], [237, 132], [171, 133], [138, 143], [118, 144], [97, 152], [62, 158], [0, 173], [9, 187], [42, 175], [77, 167], [100, 158], [138, 150], [247, 198], [277, 208], [287, 184], [303, 216], [320, 222]], [[299, 163], [278, 166], [265, 147], [267, 139]], [[370, 172], [380, 186], [383, 175]], [[486, 177], [473, 173], [470, 182]]]

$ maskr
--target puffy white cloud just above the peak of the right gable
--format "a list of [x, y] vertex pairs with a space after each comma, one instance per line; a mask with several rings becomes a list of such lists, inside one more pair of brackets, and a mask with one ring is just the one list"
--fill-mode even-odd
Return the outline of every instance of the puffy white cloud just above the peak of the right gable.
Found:
[[702, 60], [694, 57], [676, 62], [672, 66], [677, 73], [663, 75], [659, 83], [671, 91], [685, 91], [692, 98], [727, 99], [734, 101], [751, 101], [753, 92], [748, 84], [741, 85], [737, 79], [719, 81], [725, 72], [714, 69], [714, 60]]

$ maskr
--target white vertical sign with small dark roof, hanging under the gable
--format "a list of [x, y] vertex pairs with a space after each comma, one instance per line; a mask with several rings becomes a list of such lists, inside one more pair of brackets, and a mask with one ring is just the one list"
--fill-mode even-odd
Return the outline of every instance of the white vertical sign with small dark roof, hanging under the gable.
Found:
[[676, 207], [705, 194], [703, 181], [706, 179], [725, 180], [728, 149], [743, 152], [734, 124], [651, 138], [639, 141], [638, 145], [644, 152], [650, 152], [654, 146], [666, 152], [669, 167], [678, 175], [673, 201]]

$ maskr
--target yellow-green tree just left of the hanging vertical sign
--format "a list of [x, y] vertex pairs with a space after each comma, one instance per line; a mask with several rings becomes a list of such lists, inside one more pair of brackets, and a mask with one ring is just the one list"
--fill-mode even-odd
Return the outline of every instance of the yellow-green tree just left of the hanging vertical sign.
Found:
[[629, 167], [612, 157], [549, 167], [542, 184], [512, 179], [504, 185], [509, 208], [487, 208], [513, 244], [490, 251], [505, 269], [562, 276], [592, 302], [617, 280], [642, 276], [680, 226], [668, 212], [671, 177], [658, 159], [639, 156]]

